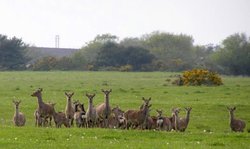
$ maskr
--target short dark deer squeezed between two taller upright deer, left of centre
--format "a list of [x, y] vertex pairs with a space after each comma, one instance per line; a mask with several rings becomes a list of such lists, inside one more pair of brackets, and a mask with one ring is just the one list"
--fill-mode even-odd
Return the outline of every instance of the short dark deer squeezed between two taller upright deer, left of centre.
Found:
[[75, 104], [75, 114], [74, 119], [77, 127], [87, 127], [86, 124], [86, 111], [84, 109], [84, 104]]

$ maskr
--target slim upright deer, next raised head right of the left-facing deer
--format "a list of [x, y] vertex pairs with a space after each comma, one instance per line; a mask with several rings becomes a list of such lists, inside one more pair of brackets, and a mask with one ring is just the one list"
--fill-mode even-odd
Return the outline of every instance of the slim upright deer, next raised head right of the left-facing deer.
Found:
[[72, 96], [74, 95], [73, 93], [67, 93], [65, 92], [66, 98], [67, 98], [67, 104], [65, 107], [65, 114], [66, 118], [69, 119], [70, 121], [70, 126], [73, 126], [73, 121], [74, 121], [74, 107], [72, 106]]

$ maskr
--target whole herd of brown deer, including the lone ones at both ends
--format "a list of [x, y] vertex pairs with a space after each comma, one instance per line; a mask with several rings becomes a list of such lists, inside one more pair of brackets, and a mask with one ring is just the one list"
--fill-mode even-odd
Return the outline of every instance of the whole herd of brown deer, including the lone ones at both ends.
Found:
[[[150, 116], [149, 104], [151, 98], [142, 98], [143, 104], [137, 110], [122, 111], [118, 106], [111, 108], [109, 104], [109, 94], [112, 90], [102, 90], [105, 100], [98, 106], [94, 106], [93, 99], [95, 94], [86, 94], [88, 97], [88, 108], [85, 111], [84, 104], [79, 101], [72, 102], [74, 93], [67, 93], [67, 104], [65, 112], [56, 112], [55, 103], [44, 103], [42, 100], [42, 89], [32, 93], [31, 96], [37, 97], [38, 108], [34, 112], [36, 126], [51, 126], [51, 121], [54, 119], [55, 126], [72, 127], [75, 121], [77, 127], [102, 127], [102, 128], [121, 128], [121, 129], [156, 129], [165, 131], [185, 131], [190, 117], [191, 107], [185, 108], [186, 117], [179, 117], [179, 108], [172, 109], [172, 116], [166, 117], [162, 110], [156, 110], [157, 116]], [[15, 113], [13, 117], [14, 125], [24, 126], [25, 115], [19, 112], [19, 104], [21, 101], [14, 101]], [[243, 132], [245, 122], [234, 117], [235, 107], [229, 108], [230, 127], [232, 131]]]

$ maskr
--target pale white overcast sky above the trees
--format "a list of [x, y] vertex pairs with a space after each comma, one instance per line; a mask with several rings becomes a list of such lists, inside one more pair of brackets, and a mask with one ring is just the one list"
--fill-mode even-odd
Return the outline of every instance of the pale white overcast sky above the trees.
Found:
[[250, 35], [250, 0], [0, 0], [0, 34], [38, 47], [81, 48], [98, 34], [120, 40], [153, 31], [195, 45]]

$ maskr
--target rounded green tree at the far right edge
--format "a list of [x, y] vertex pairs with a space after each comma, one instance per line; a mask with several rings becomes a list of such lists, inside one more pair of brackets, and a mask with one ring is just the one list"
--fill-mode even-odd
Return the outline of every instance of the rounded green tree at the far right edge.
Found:
[[223, 40], [213, 55], [223, 72], [250, 75], [250, 42], [245, 34], [233, 34]]

